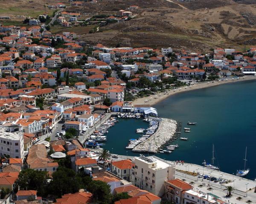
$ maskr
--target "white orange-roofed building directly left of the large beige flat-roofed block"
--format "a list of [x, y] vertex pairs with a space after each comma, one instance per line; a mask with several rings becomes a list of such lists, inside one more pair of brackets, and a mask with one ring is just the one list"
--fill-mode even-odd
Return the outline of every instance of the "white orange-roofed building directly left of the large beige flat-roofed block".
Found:
[[131, 166], [132, 162], [129, 159], [112, 162], [112, 173], [131, 181]]

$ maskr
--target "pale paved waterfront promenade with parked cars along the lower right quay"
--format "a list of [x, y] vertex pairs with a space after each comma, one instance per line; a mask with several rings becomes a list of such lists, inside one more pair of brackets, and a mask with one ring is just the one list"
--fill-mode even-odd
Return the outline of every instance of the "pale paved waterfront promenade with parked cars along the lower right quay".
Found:
[[[116, 154], [115, 154], [116, 155]], [[122, 159], [133, 159], [133, 156], [123, 156], [117, 155], [119, 158], [114, 159], [113, 161], [119, 161]], [[172, 164], [176, 164], [176, 161], [169, 161]], [[183, 173], [179, 170], [184, 171]], [[187, 173], [186, 173], [187, 172]], [[208, 176], [214, 176], [216, 178], [222, 178], [226, 181], [229, 181], [227, 184], [214, 183], [207, 179], [198, 178], [198, 176], [192, 176], [190, 173], [206, 174]], [[193, 186], [193, 189], [196, 191], [202, 191], [204, 193], [211, 193], [218, 196], [221, 200], [230, 204], [246, 204], [246, 201], [253, 201], [253, 204], [256, 203], [256, 193], [254, 189], [256, 187], [256, 181], [252, 181], [246, 178], [241, 178], [229, 173], [211, 170], [209, 168], [189, 163], [177, 163], [175, 178], [179, 178], [187, 183], [190, 183]], [[203, 185], [203, 183], [205, 185]], [[227, 191], [225, 191], [226, 186], [232, 186], [235, 190], [232, 191], [232, 197], [227, 198]], [[241, 197], [241, 200], [236, 198]]]

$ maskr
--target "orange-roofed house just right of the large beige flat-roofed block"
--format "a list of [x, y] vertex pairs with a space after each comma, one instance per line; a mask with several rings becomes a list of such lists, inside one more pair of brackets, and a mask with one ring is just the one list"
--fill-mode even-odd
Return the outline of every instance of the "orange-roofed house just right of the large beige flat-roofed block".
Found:
[[192, 185], [178, 178], [171, 181], [165, 181], [165, 197], [175, 204], [184, 203], [184, 192], [193, 189]]

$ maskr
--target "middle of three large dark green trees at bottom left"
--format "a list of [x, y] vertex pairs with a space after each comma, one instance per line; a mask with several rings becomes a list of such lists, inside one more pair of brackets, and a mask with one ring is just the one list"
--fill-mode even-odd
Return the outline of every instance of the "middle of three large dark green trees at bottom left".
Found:
[[58, 167], [52, 174], [52, 181], [49, 183], [49, 193], [58, 197], [67, 193], [77, 193], [83, 187], [81, 177], [76, 172], [66, 167]]

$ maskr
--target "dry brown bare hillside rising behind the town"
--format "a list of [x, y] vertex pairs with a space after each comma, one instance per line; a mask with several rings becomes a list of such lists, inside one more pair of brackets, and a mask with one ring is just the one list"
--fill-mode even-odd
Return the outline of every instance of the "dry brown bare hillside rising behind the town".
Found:
[[[248, 0], [249, 1], [249, 0]], [[109, 6], [109, 3], [115, 6]], [[190, 48], [256, 44], [256, 6], [233, 0], [116, 0], [94, 5], [94, 13], [118, 11], [139, 4], [136, 18], [108, 24], [100, 32], [84, 34], [89, 43], [105, 45]], [[249, 3], [249, 2], [247, 2]], [[179, 6], [180, 5], [180, 6]], [[181, 7], [182, 6], [182, 7]], [[84, 6], [90, 11], [90, 6]]]

